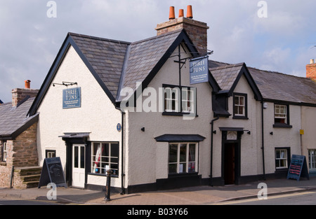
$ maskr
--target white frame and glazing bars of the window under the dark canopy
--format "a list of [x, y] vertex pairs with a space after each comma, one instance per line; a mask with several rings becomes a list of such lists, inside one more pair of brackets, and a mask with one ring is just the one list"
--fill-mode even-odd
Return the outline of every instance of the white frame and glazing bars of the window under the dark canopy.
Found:
[[[195, 160], [194, 161], [189, 161], [189, 148], [190, 145], [194, 144], [195, 145]], [[198, 148], [199, 148], [199, 144], [196, 142], [181, 142], [181, 143], [169, 143], [169, 156], [170, 156], [170, 146], [171, 145], [176, 145], [177, 146], [177, 160], [176, 162], [170, 162], [170, 160], [168, 160], [168, 173], [169, 174], [190, 174], [190, 173], [197, 173], [199, 171], [198, 169]], [[185, 153], [185, 162], [180, 161], [180, 146], [186, 145], [186, 153]], [[194, 163], [195, 165], [195, 171], [189, 171], [189, 164], [191, 164], [190, 166], [192, 167], [192, 164]], [[176, 164], [176, 173], [175, 172], [170, 172], [169, 166], [170, 164]], [[181, 164], [185, 164], [185, 169], [182, 169], [181, 167], [183, 167], [183, 165]]]

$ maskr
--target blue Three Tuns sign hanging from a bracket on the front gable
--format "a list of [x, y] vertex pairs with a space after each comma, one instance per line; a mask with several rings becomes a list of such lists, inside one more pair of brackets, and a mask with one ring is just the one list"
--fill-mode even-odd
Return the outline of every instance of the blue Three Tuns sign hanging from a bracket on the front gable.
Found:
[[190, 60], [190, 84], [209, 82], [209, 57]]

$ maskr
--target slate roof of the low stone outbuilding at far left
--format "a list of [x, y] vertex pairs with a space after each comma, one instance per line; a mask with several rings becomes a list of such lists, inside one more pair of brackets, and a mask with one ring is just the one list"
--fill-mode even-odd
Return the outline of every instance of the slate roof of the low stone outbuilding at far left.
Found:
[[18, 107], [11, 102], [0, 105], [0, 138], [14, 138], [36, 121], [38, 114], [27, 117], [33, 101], [34, 97], [29, 98]]

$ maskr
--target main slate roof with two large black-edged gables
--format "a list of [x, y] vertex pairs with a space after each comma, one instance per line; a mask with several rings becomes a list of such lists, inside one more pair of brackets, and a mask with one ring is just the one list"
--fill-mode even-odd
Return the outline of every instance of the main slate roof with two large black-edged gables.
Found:
[[[145, 89], [180, 43], [185, 43], [192, 57], [196, 57], [197, 49], [184, 29], [134, 43], [68, 33], [28, 114], [36, 113], [70, 46], [116, 104], [122, 87], [136, 91], [136, 82], [140, 82]], [[213, 76], [209, 83], [213, 90], [219, 89]]]

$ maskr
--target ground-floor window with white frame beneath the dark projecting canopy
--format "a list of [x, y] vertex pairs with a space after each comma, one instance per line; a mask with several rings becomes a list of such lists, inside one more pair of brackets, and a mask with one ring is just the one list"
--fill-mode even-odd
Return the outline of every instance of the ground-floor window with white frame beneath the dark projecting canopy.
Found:
[[169, 174], [197, 172], [197, 143], [169, 143]]

